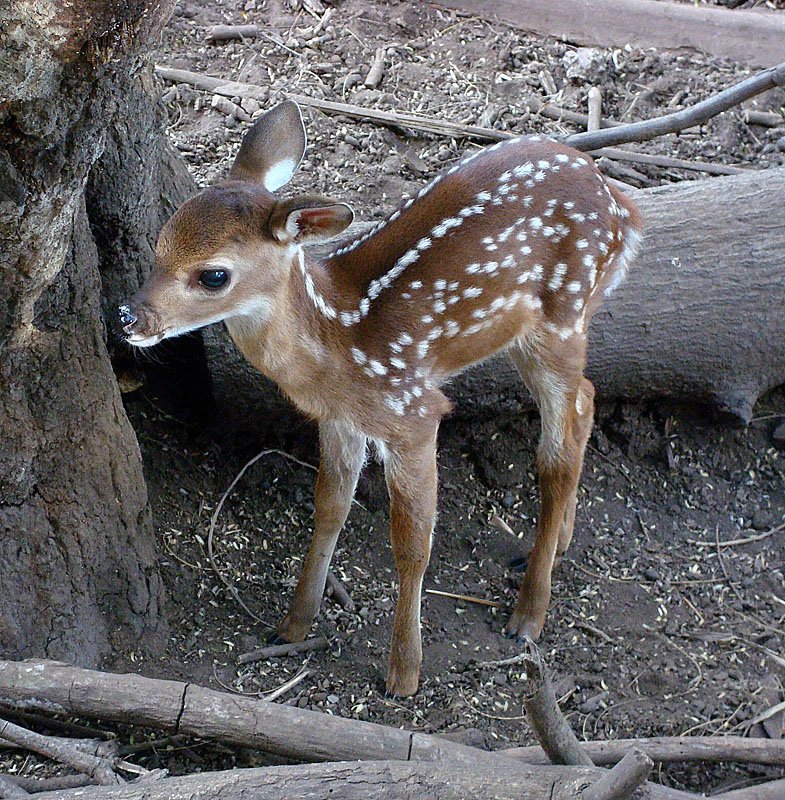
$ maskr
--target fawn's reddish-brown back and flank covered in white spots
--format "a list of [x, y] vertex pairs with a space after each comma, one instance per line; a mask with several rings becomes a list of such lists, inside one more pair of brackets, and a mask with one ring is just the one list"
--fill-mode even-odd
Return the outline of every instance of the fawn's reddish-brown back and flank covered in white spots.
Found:
[[583, 336], [639, 224], [588, 159], [526, 137], [465, 158], [335, 250], [329, 293], [302, 264], [354, 377], [394, 415], [426, 416], [434, 386], [511, 342]]

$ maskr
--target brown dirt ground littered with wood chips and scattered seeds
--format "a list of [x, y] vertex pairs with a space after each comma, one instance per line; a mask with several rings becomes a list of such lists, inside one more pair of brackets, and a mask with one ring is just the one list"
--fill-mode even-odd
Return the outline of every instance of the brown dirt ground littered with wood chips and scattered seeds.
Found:
[[[206, 28], [224, 22], [257, 23], [267, 34], [204, 44]], [[316, 24], [280, 2], [186, 0], [156, 59], [269, 86], [270, 104], [287, 91], [552, 134], [570, 128], [529, 114], [520, 102], [542, 96], [548, 75], [560, 105], [585, 112], [588, 88], [599, 84], [604, 113], [633, 121], [692, 104], [749, 74], [727, 61], [629, 49], [594, 51], [581, 67], [568, 44], [426, 4], [346, 0], [314, 35]], [[362, 81], [380, 46], [387, 48], [385, 75], [378, 89], [367, 89]], [[172, 139], [204, 185], [226, 170], [245, 125], [188, 87], [167, 99]], [[782, 92], [758, 99], [760, 108], [782, 105]], [[257, 109], [246, 104], [246, 110]], [[347, 200], [364, 219], [389, 213], [402, 195], [476, 147], [317, 113], [306, 117], [310, 149], [293, 190]], [[701, 131], [641, 149], [762, 168], [785, 163], [785, 128], [750, 128], [734, 111]], [[638, 183], [697, 176], [635, 168]], [[238, 666], [238, 654], [258, 646], [286, 609], [311, 530], [314, 472], [272, 453], [246, 472], [223, 507], [215, 563], [253, 616], [211, 567], [211, 515], [233, 477], [265, 448], [315, 464], [314, 430], [287, 413], [272, 420], [264, 439], [232, 436], [231, 419], [193, 431], [179, 421], [182, 410], [149, 387], [127, 395], [126, 404], [145, 461], [172, 636], [159, 661], [126, 654], [109, 666], [253, 695], [307, 669], [285, 702], [490, 748], [534, 741], [523, 718], [520, 665], [477, 662], [517, 650], [500, 630], [520, 577], [509, 563], [531, 541], [538, 513], [536, 413], [495, 410], [468, 419], [459, 409], [443, 424], [439, 521], [425, 588], [500, 608], [426, 593], [422, 688], [401, 701], [383, 694], [396, 578], [379, 466], [365, 471], [335, 556], [356, 610], [325, 600], [318, 629], [330, 649]], [[729, 427], [706, 409], [600, 398], [575, 540], [555, 574], [540, 643], [579, 737], [783, 735], [782, 714], [755, 722], [782, 701], [785, 681], [785, 531], [767, 535], [785, 519], [785, 434], [774, 435], [783, 421], [782, 389], [760, 401], [747, 429]], [[495, 517], [515, 534], [499, 529]], [[187, 752], [164, 748], [147, 764], [183, 771], [200, 761], [258, 758], [192, 743]], [[670, 767], [660, 778], [709, 790], [763, 774]]]

